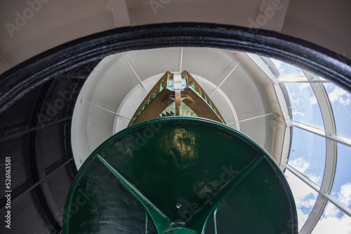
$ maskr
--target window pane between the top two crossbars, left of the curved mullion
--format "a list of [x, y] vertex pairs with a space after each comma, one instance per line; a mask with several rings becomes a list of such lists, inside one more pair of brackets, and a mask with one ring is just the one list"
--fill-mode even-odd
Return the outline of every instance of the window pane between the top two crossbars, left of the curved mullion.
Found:
[[285, 83], [293, 120], [324, 129], [321, 110], [309, 83]]

